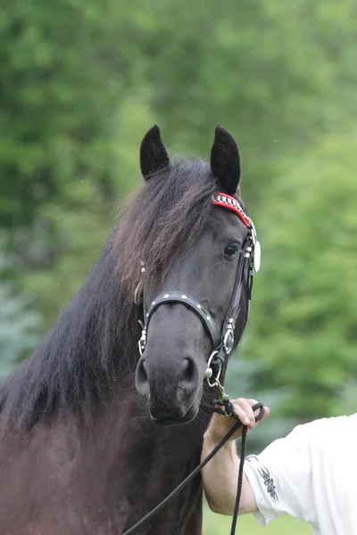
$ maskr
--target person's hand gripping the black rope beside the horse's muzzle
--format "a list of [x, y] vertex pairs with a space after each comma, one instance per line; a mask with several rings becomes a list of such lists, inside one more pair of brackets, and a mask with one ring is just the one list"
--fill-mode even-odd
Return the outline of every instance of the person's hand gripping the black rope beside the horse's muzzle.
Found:
[[[231, 403], [234, 407], [234, 411], [237, 414], [239, 420], [242, 424], [247, 425], [248, 432], [252, 431], [258, 422], [255, 422], [255, 416], [258, 416], [260, 413], [260, 408], [257, 408], [253, 412], [253, 405], [257, 403], [255, 399], [231, 399]], [[270, 413], [268, 407], [264, 407], [264, 415], [262, 416], [259, 422], [262, 422]], [[220, 440], [228, 433], [228, 431], [236, 423], [234, 418], [228, 418], [227, 416], [222, 416], [217, 413], [213, 413], [211, 424], [209, 425], [207, 431], [204, 433], [204, 439], [209, 440], [212, 444], [218, 444]], [[240, 439], [242, 436], [243, 425], [237, 429], [229, 440]], [[228, 441], [229, 441], [228, 440]]]

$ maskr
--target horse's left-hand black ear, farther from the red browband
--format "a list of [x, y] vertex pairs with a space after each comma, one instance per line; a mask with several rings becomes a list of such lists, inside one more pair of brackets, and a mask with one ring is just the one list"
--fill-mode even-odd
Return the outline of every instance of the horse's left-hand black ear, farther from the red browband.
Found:
[[146, 133], [140, 146], [140, 169], [145, 180], [170, 165], [169, 154], [162, 143], [160, 128], [154, 125]]

